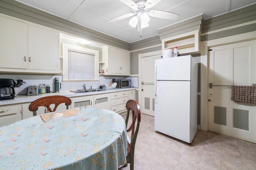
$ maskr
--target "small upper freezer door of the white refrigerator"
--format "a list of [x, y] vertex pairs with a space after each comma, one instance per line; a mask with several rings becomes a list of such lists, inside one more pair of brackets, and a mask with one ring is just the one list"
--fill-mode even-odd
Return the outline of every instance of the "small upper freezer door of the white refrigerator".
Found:
[[156, 80], [190, 80], [191, 55], [158, 59], [155, 63]]

